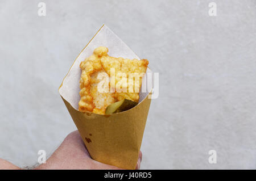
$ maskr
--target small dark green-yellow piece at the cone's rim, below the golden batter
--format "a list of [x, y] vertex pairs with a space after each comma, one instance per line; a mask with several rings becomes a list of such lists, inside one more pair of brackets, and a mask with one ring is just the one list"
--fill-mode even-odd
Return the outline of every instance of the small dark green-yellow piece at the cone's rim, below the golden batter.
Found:
[[128, 100], [128, 99], [119, 100], [118, 102], [110, 104], [106, 108], [105, 114], [109, 115], [111, 113], [127, 111], [127, 110], [130, 110], [131, 108], [137, 106], [137, 104], [138, 104], [137, 102], [134, 102], [134, 101]]

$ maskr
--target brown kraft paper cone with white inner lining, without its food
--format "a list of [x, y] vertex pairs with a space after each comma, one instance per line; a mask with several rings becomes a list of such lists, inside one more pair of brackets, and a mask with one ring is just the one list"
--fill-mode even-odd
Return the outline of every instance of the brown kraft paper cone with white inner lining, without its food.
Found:
[[[147, 88], [150, 91], [140, 92], [139, 104], [124, 112], [98, 115], [78, 111], [81, 75], [79, 65], [99, 46], [108, 47], [109, 55], [113, 57], [139, 59], [117, 35], [104, 25], [76, 58], [63, 79], [59, 92], [91, 157], [96, 161], [123, 169], [135, 169], [150, 108], [151, 99], [148, 99], [148, 95], [151, 88]], [[147, 72], [151, 70], [147, 69]], [[142, 85], [145, 83], [146, 76], [142, 80]]]

